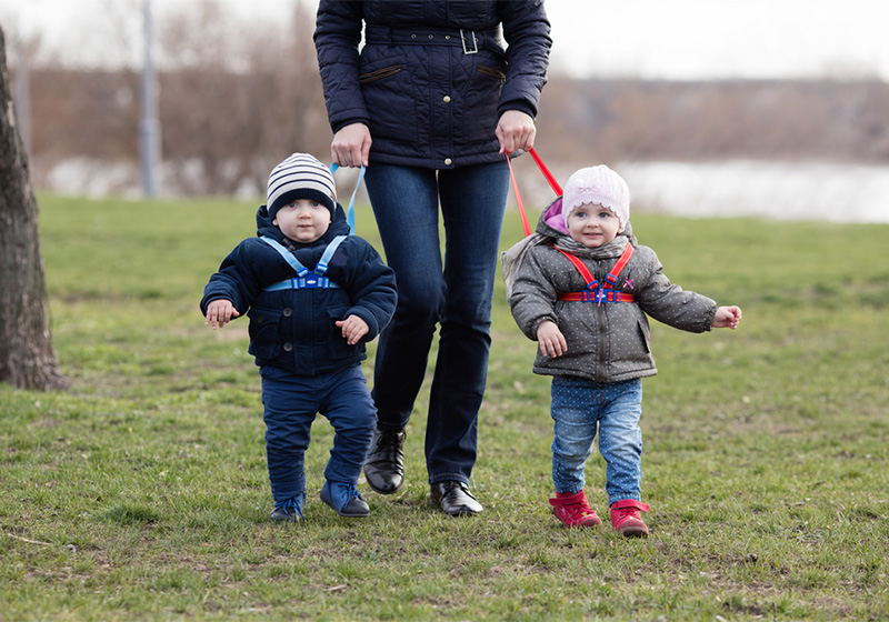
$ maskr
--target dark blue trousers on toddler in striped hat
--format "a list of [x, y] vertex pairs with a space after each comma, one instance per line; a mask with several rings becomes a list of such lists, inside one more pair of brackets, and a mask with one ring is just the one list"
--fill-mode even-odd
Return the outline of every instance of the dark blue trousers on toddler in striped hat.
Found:
[[304, 455], [319, 412], [336, 431], [324, 479], [358, 483], [377, 422], [361, 368], [310, 377], [264, 367], [260, 374], [266, 455], [276, 503], [306, 492]]

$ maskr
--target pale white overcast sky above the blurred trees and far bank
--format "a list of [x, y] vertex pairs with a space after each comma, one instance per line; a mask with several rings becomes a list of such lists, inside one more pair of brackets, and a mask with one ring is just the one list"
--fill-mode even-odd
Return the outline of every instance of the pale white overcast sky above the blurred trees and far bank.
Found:
[[[129, 11], [138, 19], [141, 1], [0, 0], [0, 23], [10, 41], [14, 32], [40, 32], [64, 54], [101, 56], [107, 31], [97, 24], [103, 14]], [[200, 0], [151, 1], [160, 16]], [[300, 0], [221, 1], [251, 27], [256, 16], [281, 14]], [[312, 10], [318, 3], [301, 1]], [[885, 0], [547, 0], [546, 6], [552, 69], [579, 78], [889, 81]]]

